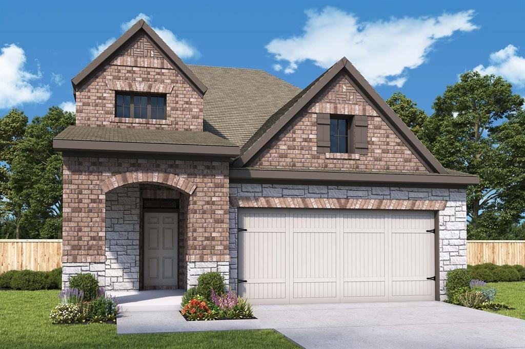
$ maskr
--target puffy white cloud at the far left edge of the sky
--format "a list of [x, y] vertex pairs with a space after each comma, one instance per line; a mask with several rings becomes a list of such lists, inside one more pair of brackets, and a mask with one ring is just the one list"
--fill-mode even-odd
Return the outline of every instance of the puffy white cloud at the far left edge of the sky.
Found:
[[51, 96], [48, 85], [34, 86], [31, 80], [39, 80], [42, 73], [25, 70], [24, 50], [14, 43], [0, 51], [0, 108], [10, 108], [23, 103], [45, 102]]

